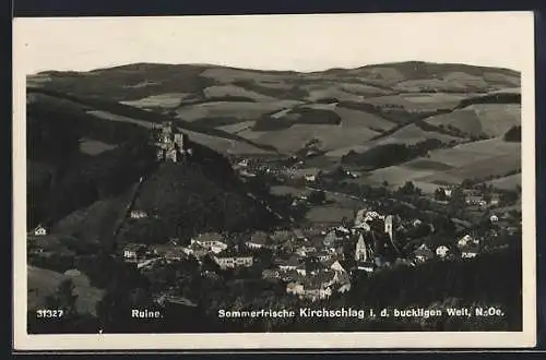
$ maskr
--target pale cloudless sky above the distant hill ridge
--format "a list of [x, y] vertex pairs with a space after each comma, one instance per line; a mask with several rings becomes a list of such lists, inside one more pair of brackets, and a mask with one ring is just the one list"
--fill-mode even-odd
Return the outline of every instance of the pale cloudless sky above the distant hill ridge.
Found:
[[35, 17], [15, 19], [13, 33], [14, 64], [27, 74], [134, 62], [310, 72], [419, 60], [521, 70], [534, 43], [531, 12]]

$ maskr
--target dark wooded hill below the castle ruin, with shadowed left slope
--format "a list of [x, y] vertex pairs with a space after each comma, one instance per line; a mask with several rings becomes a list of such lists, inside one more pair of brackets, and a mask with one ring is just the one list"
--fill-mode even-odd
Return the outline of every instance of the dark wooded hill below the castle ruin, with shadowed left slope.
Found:
[[[90, 119], [79, 108], [29, 96], [29, 228], [44, 224], [54, 232], [102, 241], [122, 216], [141, 177], [146, 181], [136, 205], [153, 207], [146, 209], [163, 221], [159, 228], [171, 231], [165, 236], [178, 233], [180, 228], [191, 232], [240, 230], [274, 223], [272, 215], [247, 195], [228, 160], [192, 142], [191, 136], [193, 155], [187, 163], [161, 164], [149, 142], [150, 129]], [[130, 233], [155, 233], [156, 225], [144, 221]]]

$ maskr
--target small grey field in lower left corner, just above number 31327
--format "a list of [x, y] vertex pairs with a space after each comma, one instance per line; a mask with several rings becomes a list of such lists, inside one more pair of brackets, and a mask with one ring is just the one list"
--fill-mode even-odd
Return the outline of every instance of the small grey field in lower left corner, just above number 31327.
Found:
[[27, 266], [28, 310], [44, 309], [47, 296], [55, 293], [64, 279], [72, 279], [78, 295], [76, 309], [80, 313], [95, 314], [96, 303], [103, 298], [104, 291], [92, 287], [87, 276], [80, 272], [61, 274], [45, 268]]

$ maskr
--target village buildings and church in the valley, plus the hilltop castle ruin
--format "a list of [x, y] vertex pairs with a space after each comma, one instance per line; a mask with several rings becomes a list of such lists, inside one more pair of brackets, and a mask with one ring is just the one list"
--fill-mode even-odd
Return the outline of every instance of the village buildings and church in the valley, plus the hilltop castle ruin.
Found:
[[[157, 160], [183, 163], [191, 156], [185, 137], [176, 133], [173, 124], [156, 134]], [[302, 160], [296, 157], [287, 164], [277, 161], [275, 166], [247, 158], [232, 158], [232, 164], [241, 179], [269, 173], [282, 183], [292, 180], [306, 188], [319, 187], [316, 173], [298, 172]], [[351, 171], [345, 171], [344, 176], [358, 177]], [[143, 178], [140, 181], [143, 182]], [[448, 204], [455, 191], [459, 189], [454, 187], [439, 187], [434, 201]], [[385, 213], [370, 202], [355, 211], [353, 218], [337, 224], [293, 223], [272, 231], [204, 232], [191, 239], [168, 238], [163, 243], [123, 243], [116, 255], [143, 274], [153, 274], [165, 264], [188, 261], [199, 264], [201, 276], [218, 276], [225, 272], [237, 276], [241, 271], [252, 269], [252, 274], [258, 274], [254, 277], [263, 281], [283, 284], [286, 296], [319, 301], [351, 291], [355, 278], [361, 274], [373, 276], [392, 267], [415, 267], [431, 261], [471, 260], [498, 247], [496, 238], [521, 231], [521, 219], [494, 213], [499, 204], [497, 194], [484, 196], [475, 190], [465, 190], [463, 194], [463, 206], [488, 209], [486, 230], [478, 231], [471, 224], [452, 235], [440, 236], [439, 242], [427, 241], [438, 231], [432, 224]], [[308, 197], [295, 197], [292, 205], [312, 206]], [[141, 221], [149, 216], [152, 215], [134, 208], [131, 202], [123, 220]], [[39, 225], [31, 235], [46, 236], [48, 229]], [[159, 303], [169, 297], [168, 289], [155, 296]], [[191, 303], [183, 297], [178, 300]]]

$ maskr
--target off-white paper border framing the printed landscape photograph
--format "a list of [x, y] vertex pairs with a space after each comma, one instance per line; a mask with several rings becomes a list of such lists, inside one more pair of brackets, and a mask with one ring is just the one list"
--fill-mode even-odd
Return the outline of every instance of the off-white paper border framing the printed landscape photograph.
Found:
[[[411, 15], [411, 14], [408, 14]], [[438, 16], [442, 14], [438, 13]], [[484, 13], [484, 16], [486, 14]], [[536, 224], [535, 224], [535, 92], [534, 22], [521, 29], [529, 49], [522, 69], [522, 332], [460, 333], [241, 333], [241, 334], [96, 334], [28, 335], [26, 333], [26, 145], [25, 39], [13, 32], [13, 324], [16, 350], [213, 350], [213, 349], [378, 349], [378, 348], [524, 348], [536, 343]], [[434, 31], [434, 29], [431, 29]], [[502, 281], [502, 279], [499, 279]]]

